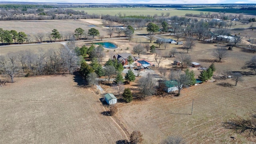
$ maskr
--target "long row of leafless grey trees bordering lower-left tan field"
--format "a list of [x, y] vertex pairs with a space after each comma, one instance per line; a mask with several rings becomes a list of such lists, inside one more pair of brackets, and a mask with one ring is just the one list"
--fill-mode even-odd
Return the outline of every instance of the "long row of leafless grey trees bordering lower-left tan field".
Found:
[[58, 51], [40, 50], [33, 53], [29, 50], [10, 52], [0, 56], [0, 73], [10, 76], [14, 82], [14, 76], [18, 73], [29, 75], [48, 75], [68, 72], [71, 74], [78, 67], [79, 58], [68, 46]]

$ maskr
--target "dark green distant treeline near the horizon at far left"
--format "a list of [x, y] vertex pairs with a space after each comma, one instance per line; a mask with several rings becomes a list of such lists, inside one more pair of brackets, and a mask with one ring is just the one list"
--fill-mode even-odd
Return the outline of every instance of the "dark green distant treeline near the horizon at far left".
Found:
[[51, 5], [31, 5], [31, 4], [1, 4], [0, 8], [21, 9], [21, 8], [58, 8]]

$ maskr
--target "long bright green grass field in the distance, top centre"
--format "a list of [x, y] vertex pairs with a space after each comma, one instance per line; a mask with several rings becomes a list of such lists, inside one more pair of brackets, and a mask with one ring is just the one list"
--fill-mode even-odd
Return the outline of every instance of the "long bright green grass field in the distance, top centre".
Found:
[[84, 10], [88, 14], [109, 14], [111, 16], [118, 15], [119, 12], [126, 14], [126, 16], [140, 16], [140, 15], [150, 15], [153, 16], [157, 14], [161, 16], [162, 13], [170, 13], [170, 16], [184, 16], [187, 13], [199, 14], [198, 11], [189, 10], [176, 10], [174, 8], [169, 8], [169, 10], [156, 10], [156, 8], [70, 8], [72, 10]]

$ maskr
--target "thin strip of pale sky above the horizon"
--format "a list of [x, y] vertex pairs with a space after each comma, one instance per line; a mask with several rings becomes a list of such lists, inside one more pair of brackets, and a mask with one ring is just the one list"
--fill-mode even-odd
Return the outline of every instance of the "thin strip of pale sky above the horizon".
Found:
[[[21, 0], [3, 0], [21, 1]], [[24, 2], [116, 3], [116, 4], [256, 4], [256, 0], [25, 0]]]

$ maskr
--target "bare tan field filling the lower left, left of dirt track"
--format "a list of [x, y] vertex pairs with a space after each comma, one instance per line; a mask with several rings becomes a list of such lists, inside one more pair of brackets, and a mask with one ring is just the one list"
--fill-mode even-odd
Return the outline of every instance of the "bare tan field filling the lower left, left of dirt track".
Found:
[[0, 87], [0, 143], [114, 144], [126, 139], [101, 95], [73, 75], [16, 78]]

